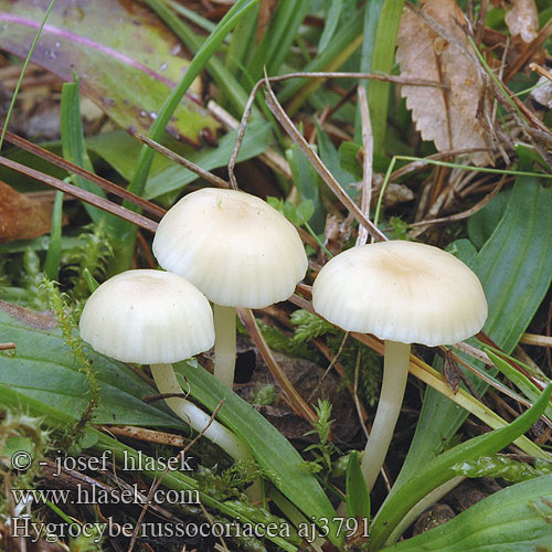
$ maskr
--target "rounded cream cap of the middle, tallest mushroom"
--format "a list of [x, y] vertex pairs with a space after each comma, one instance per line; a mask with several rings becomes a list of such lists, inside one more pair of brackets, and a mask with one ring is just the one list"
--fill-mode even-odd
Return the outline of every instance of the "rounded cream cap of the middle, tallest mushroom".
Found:
[[287, 299], [307, 272], [295, 226], [265, 201], [204, 188], [159, 223], [153, 254], [166, 269], [225, 307], [263, 308]]

